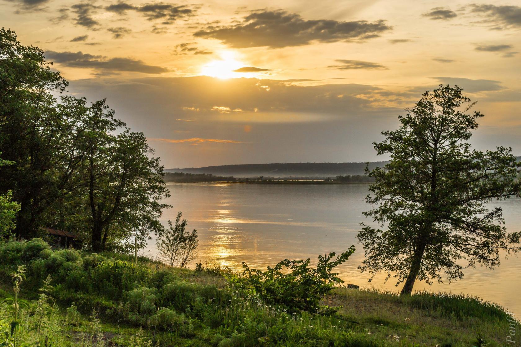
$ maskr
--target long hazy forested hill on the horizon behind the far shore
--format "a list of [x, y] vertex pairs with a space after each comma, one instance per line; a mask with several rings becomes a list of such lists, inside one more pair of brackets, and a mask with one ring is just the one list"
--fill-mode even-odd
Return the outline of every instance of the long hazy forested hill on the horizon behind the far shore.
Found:
[[[521, 157], [517, 157], [521, 161]], [[369, 163], [369, 169], [385, 165], [387, 161]], [[363, 175], [366, 163], [275, 163], [205, 166], [204, 168], [167, 169], [165, 172], [212, 174], [233, 177], [336, 177]]]

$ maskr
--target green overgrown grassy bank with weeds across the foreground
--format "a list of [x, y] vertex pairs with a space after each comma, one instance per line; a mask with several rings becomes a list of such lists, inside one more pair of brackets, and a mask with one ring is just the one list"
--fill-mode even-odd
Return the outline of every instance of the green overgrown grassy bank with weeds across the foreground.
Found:
[[41, 346], [501, 346], [506, 312], [476, 298], [336, 288], [320, 315], [239, 289], [216, 267], [168, 268], [146, 258], [53, 251], [41, 240], [0, 245], [0, 344]]

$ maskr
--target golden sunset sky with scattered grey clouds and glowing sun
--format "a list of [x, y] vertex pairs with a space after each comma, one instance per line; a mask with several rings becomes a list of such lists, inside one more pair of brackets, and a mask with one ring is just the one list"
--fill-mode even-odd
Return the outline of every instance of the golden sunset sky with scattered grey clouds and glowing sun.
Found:
[[521, 155], [521, 6], [492, 1], [0, 0], [68, 92], [107, 99], [166, 168], [365, 162], [438, 84]]

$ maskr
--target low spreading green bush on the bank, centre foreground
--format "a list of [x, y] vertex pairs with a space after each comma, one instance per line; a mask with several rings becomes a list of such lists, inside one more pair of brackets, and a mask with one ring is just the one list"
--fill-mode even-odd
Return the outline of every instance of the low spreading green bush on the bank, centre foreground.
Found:
[[[251, 269], [246, 263], [242, 263], [243, 273], [239, 276], [231, 274], [228, 279], [238, 288], [258, 294], [268, 303], [286, 306], [289, 312], [319, 312], [319, 303], [324, 295], [334, 285], [343, 283], [337, 277], [338, 273], [332, 271], [347, 261], [354, 251], [354, 246], [351, 246], [335, 260], [332, 260], [335, 253], [319, 255], [315, 268], [309, 266], [309, 259], [284, 259], [275, 267], [268, 266], [267, 271]], [[334, 310], [328, 307], [327, 312], [331, 314]]]

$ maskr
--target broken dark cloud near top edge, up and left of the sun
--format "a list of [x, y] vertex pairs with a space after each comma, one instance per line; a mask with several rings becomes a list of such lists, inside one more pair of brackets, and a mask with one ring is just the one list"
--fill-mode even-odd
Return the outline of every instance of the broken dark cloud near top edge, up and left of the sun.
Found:
[[125, 2], [109, 5], [105, 9], [119, 15], [124, 15], [127, 11], [136, 11], [148, 20], [162, 19], [163, 24], [171, 24], [180, 18], [192, 16], [195, 11], [184, 5], [153, 3], [134, 6]]

